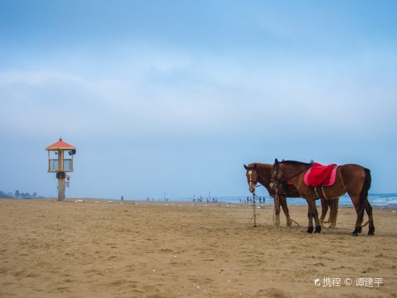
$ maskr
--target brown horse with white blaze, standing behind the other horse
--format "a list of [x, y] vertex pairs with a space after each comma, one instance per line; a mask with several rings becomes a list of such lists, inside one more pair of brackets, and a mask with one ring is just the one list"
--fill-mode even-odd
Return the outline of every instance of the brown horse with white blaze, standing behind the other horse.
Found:
[[[247, 182], [250, 187], [250, 192], [255, 193], [255, 188], [257, 186], [257, 182], [262, 184], [266, 189], [267, 192], [269, 192], [269, 195], [271, 197], [274, 197], [274, 208], [275, 208], [275, 221], [274, 225], [279, 226], [280, 224], [280, 205], [284, 211], [284, 214], [286, 216], [286, 225], [287, 226], [292, 226], [292, 220], [291, 217], [289, 216], [289, 209], [286, 204], [286, 198], [291, 197], [291, 198], [299, 198], [301, 195], [298, 192], [298, 189], [294, 187], [293, 185], [289, 185], [287, 183], [283, 185], [279, 185], [279, 188], [277, 190], [277, 197], [279, 198], [279, 202], [276, 202], [276, 197], [274, 192], [274, 189], [270, 187], [270, 182], [272, 181], [272, 167], [273, 165], [270, 165], [268, 163], [259, 163], [259, 162], [253, 162], [250, 163], [250, 165], [244, 165], [245, 170], [247, 170]], [[337, 219], [337, 209], [338, 209], [338, 204], [339, 198], [335, 200], [325, 200], [321, 199], [321, 216], [320, 216], [320, 221], [321, 223], [325, 223], [325, 215], [328, 212], [328, 207], [330, 207], [330, 217], [327, 222], [330, 223], [330, 228], [335, 228], [336, 226], [336, 219]], [[278, 204], [279, 203], [279, 204]]]

